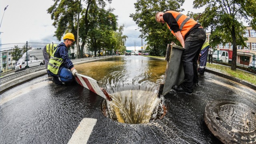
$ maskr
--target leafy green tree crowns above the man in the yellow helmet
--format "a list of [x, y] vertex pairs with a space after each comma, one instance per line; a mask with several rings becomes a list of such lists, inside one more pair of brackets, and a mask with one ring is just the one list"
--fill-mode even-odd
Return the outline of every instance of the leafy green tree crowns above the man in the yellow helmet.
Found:
[[[81, 49], [78, 46], [79, 52], [83, 51], [84, 45], [87, 42], [92, 49], [99, 50], [102, 40], [106, 36], [107, 31], [115, 31], [117, 28], [117, 19], [112, 14], [112, 9], [105, 10], [106, 2], [112, 0], [83, 0], [85, 4], [80, 4], [81, 0], [54, 0], [54, 5], [48, 8], [48, 13], [51, 14], [53, 26], [56, 28], [54, 36], [61, 40], [66, 32], [72, 32], [76, 42], [82, 42]], [[81, 14], [81, 15], [80, 15]], [[78, 17], [79, 16], [79, 17]], [[77, 38], [79, 18], [79, 39]], [[96, 32], [93, 34], [93, 32]], [[98, 36], [97, 38], [94, 36]], [[89, 38], [89, 39], [88, 39]], [[96, 42], [97, 41], [97, 42]], [[104, 42], [106, 44], [106, 42]], [[106, 44], [109, 46], [109, 43]], [[81, 58], [82, 54], [78, 56]]]

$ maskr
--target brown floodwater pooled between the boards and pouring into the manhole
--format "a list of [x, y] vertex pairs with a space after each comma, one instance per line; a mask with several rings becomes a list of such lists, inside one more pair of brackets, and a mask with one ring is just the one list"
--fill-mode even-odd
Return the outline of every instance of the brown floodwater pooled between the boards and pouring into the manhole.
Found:
[[[113, 101], [103, 106], [107, 117], [122, 123], [141, 124], [164, 114], [163, 104], [158, 106], [164, 98], [157, 98], [157, 94], [165, 67], [165, 61], [122, 56], [79, 64], [76, 69], [80, 74], [98, 80], [112, 97]], [[154, 114], [153, 111], [160, 112]]]

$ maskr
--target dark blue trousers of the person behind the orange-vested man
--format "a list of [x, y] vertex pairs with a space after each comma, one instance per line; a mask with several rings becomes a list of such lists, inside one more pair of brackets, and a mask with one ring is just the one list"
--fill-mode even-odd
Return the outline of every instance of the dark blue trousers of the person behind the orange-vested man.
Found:
[[199, 68], [198, 68], [198, 73], [199, 74], [204, 74], [204, 70], [206, 67], [206, 62], [207, 62], [207, 55], [208, 55], [208, 50], [210, 46], [206, 46], [204, 49], [201, 50], [201, 56], [199, 58]]

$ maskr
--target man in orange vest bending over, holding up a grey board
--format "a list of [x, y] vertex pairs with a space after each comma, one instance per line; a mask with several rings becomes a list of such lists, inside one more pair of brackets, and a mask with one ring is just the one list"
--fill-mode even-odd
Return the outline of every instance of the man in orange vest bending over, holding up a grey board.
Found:
[[184, 48], [181, 58], [184, 68], [184, 81], [180, 85], [172, 86], [172, 89], [176, 92], [192, 94], [193, 83], [198, 84], [197, 60], [200, 49], [206, 40], [206, 33], [195, 20], [172, 10], [158, 12], [156, 21], [166, 23]]

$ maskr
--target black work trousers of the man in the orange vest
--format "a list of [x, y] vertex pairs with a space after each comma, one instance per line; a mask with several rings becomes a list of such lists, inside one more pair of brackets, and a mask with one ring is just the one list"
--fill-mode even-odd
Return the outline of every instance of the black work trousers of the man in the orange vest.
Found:
[[206, 33], [203, 28], [194, 29], [185, 40], [185, 49], [182, 52], [184, 82], [181, 84], [185, 91], [193, 91], [193, 82], [198, 83], [197, 61], [205, 40]]

